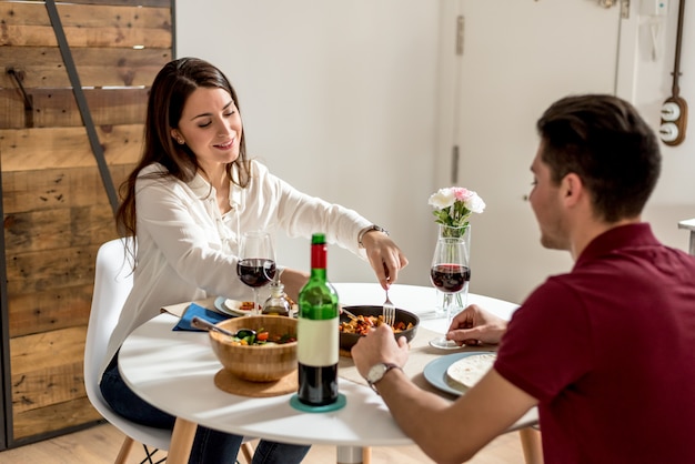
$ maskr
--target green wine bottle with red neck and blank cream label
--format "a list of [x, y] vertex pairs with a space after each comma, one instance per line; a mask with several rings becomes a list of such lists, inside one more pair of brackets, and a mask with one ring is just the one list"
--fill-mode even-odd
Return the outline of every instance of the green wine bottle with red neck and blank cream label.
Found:
[[311, 276], [299, 295], [298, 397], [310, 406], [323, 406], [338, 401], [338, 293], [326, 279], [326, 249], [325, 235], [313, 234]]

